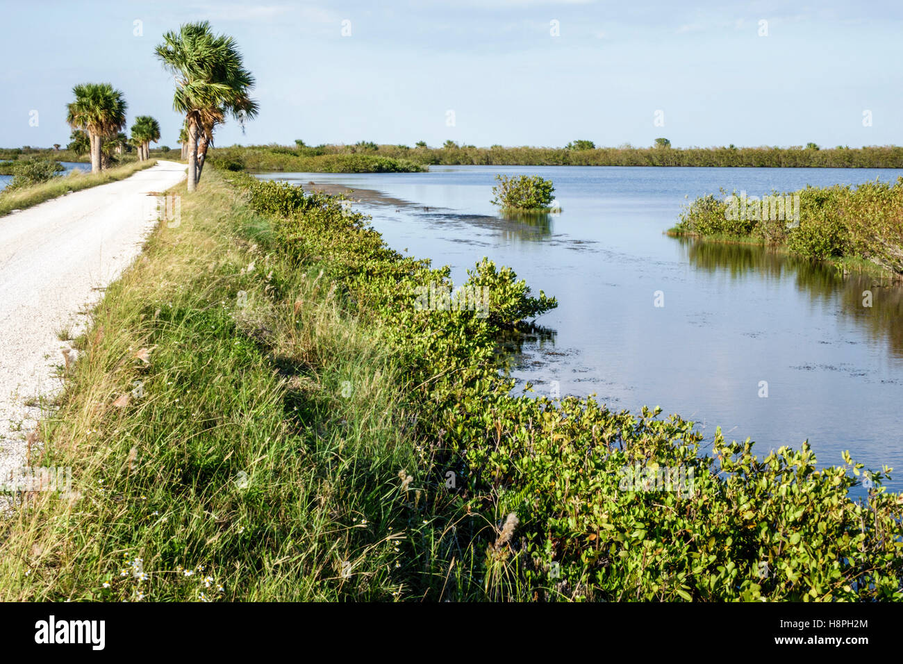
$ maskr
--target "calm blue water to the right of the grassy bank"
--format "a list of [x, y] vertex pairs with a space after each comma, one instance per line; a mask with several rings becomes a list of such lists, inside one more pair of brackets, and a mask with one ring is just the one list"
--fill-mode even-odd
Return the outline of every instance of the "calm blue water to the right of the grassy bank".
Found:
[[[489, 203], [496, 173], [551, 179], [563, 213], [532, 224], [499, 218]], [[452, 266], [456, 284], [488, 256], [557, 296], [558, 308], [537, 321], [545, 333], [526, 343], [514, 371], [539, 393], [558, 381], [562, 395], [596, 393], [614, 409], [658, 405], [707, 436], [718, 425], [729, 439], [749, 436], [760, 453], [809, 439], [820, 462], [834, 464], [849, 449], [867, 467], [895, 467], [889, 486], [901, 491], [903, 291], [761, 248], [663, 234], [686, 196], [721, 187], [762, 195], [901, 174], [451, 166], [262, 177], [377, 190], [394, 200], [360, 207], [391, 247]], [[656, 291], [664, 307], [654, 306]]]

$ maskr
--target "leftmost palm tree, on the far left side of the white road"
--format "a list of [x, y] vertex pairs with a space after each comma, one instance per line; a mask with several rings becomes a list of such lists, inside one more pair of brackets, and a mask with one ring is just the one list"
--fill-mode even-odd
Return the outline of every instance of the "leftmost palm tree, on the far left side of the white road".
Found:
[[79, 83], [72, 89], [75, 101], [67, 106], [66, 122], [88, 133], [91, 172], [101, 167], [100, 150], [107, 137], [126, 127], [126, 100], [109, 83]]

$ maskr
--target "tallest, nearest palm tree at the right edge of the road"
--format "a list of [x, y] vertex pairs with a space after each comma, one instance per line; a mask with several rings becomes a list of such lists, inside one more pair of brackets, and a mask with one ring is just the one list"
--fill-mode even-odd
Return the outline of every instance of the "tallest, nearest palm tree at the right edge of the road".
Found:
[[225, 34], [213, 34], [208, 21], [184, 23], [178, 33], [164, 34], [163, 43], [155, 52], [163, 67], [175, 77], [172, 108], [185, 114], [188, 191], [193, 192], [213, 141], [214, 128], [224, 123], [228, 115], [243, 127], [256, 116], [256, 101], [248, 97], [254, 88], [254, 77], [245, 69], [235, 40]]

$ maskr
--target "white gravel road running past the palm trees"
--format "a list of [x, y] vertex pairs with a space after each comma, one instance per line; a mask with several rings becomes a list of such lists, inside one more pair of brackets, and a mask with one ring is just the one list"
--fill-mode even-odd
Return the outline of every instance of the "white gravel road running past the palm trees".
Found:
[[26, 436], [41, 416], [37, 397], [62, 387], [69, 344], [61, 331], [71, 338], [84, 329], [79, 312], [141, 253], [156, 223], [148, 192], [184, 177], [184, 164], [162, 161], [0, 217], [0, 484], [25, 463]]

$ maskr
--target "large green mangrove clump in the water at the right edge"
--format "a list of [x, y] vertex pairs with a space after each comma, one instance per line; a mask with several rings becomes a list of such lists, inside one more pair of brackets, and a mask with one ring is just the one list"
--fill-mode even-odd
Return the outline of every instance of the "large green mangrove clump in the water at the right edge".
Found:
[[[693, 201], [669, 232], [778, 245], [799, 256], [838, 260], [844, 267], [861, 262], [903, 275], [903, 178], [893, 184], [806, 187], [796, 192], [798, 220], [787, 219], [786, 205], [778, 214], [776, 206], [764, 203], [758, 209], [746, 205], [746, 213], [736, 203], [731, 209], [725, 193]], [[774, 196], [783, 203], [792, 195]]]

